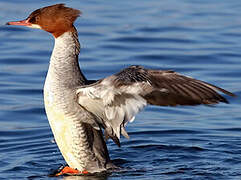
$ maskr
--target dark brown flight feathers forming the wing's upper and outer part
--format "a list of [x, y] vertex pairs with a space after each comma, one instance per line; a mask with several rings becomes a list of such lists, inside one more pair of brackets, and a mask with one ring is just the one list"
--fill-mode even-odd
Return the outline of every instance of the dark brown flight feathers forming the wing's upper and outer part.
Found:
[[[159, 106], [228, 103], [217, 91], [229, 96], [234, 94], [209, 83], [183, 76], [174, 71], [144, 69], [142, 66], [130, 66], [117, 73], [116, 87], [131, 86], [140, 83], [141, 93], [149, 104]], [[149, 88], [147, 83], [150, 84]]]

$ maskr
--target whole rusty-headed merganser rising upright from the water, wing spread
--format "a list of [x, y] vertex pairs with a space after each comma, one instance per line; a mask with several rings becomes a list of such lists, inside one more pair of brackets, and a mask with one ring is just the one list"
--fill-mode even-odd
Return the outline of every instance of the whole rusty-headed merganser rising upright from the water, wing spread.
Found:
[[81, 11], [55, 4], [7, 25], [51, 33], [55, 44], [44, 83], [44, 106], [55, 142], [67, 165], [56, 176], [88, 174], [115, 168], [107, 149], [120, 146], [125, 129], [147, 105], [182, 106], [228, 103], [235, 94], [172, 70], [132, 65], [99, 80], [88, 80], [79, 66], [80, 43], [74, 26]]

